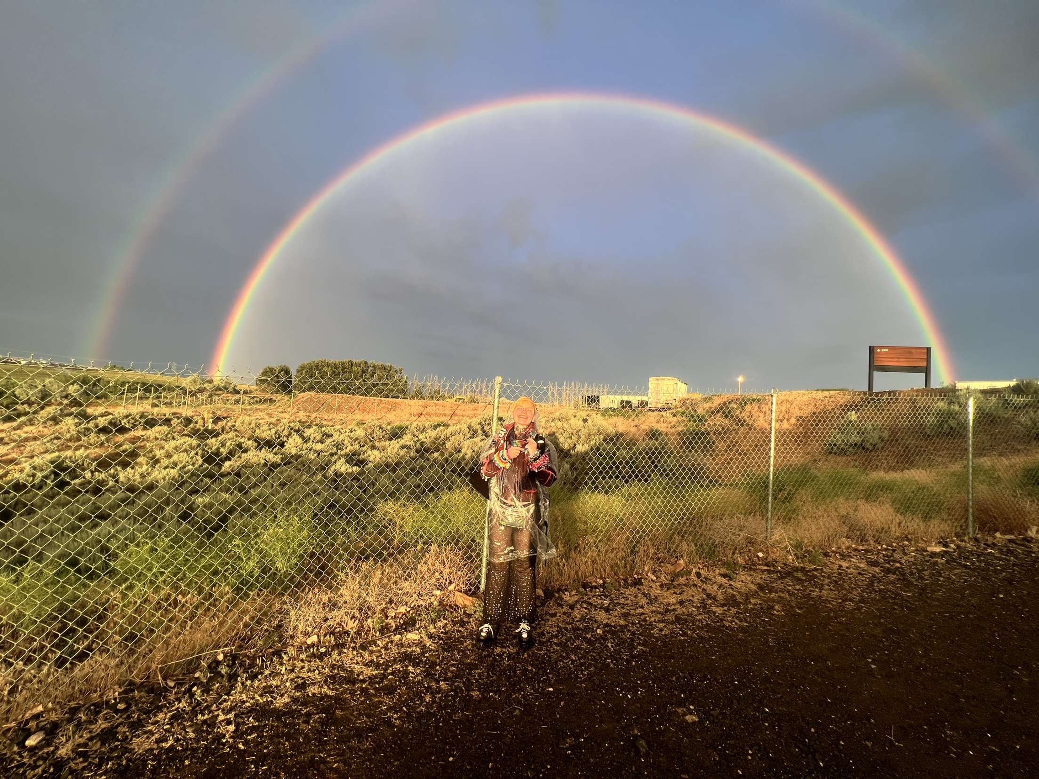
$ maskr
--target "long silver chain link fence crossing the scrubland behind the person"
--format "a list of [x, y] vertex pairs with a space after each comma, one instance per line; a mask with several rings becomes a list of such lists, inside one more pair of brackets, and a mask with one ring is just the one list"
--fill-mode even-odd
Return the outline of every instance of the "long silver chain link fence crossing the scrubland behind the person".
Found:
[[1039, 525], [1036, 396], [662, 398], [309, 365], [213, 378], [0, 358], [8, 703], [224, 644], [403, 624], [376, 601], [406, 599], [405, 581], [478, 586], [470, 477], [523, 396], [560, 456], [547, 581], [630, 571], [646, 549], [796, 557]]

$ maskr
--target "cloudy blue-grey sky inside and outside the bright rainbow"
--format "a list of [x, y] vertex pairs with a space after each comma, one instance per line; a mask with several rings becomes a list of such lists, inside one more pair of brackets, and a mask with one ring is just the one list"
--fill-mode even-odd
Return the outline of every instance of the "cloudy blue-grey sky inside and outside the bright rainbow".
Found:
[[[465, 106], [592, 90], [715, 115], [793, 155], [904, 260], [961, 378], [1039, 374], [1029, 0], [14, 2], [4, 18], [0, 348], [202, 364], [265, 246], [351, 161]], [[163, 194], [249, 85], [334, 29]], [[170, 208], [98, 346], [160, 195]], [[738, 144], [594, 109], [392, 155], [286, 248], [232, 357], [861, 386], [863, 347], [886, 340], [922, 335], [817, 195]]]

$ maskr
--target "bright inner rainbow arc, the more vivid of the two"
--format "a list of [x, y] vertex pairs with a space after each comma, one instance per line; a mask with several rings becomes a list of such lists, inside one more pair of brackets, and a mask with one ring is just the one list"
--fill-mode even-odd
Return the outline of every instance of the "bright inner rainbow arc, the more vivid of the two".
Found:
[[380, 160], [390, 154], [400, 151], [419, 138], [428, 137], [434, 133], [456, 128], [474, 119], [485, 117], [488, 114], [503, 111], [522, 110], [543, 110], [553, 107], [574, 107], [574, 106], [621, 106], [632, 110], [641, 110], [651, 114], [677, 117], [689, 122], [699, 129], [714, 132], [724, 138], [738, 141], [746, 147], [761, 155], [765, 160], [778, 165], [789, 171], [796, 179], [815, 190], [823, 200], [836, 210], [859, 234], [862, 240], [884, 262], [893, 277], [902, 290], [920, 323], [924, 337], [932, 347], [934, 364], [945, 381], [953, 380], [953, 365], [949, 355], [949, 349], [938, 330], [934, 315], [927, 306], [924, 296], [921, 294], [915, 281], [909, 275], [905, 264], [898, 258], [895, 250], [887, 244], [876, 227], [870, 223], [865, 216], [858, 211], [843, 194], [841, 194], [831, 184], [822, 179], [818, 173], [808, 168], [804, 163], [795, 159], [791, 155], [782, 152], [768, 142], [751, 135], [736, 125], [731, 125], [722, 119], [708, 114], [692, 111], [684, 106], [665, 103], [648, 98], [637, 98], [612, 93], [594, 92], [563, 92], [547, 95], [527, 95], [515, 98], [481, 103], [476, 106], [454, 111], [436, 117], [398, 135], [385, 143], [373, 149], [368, 154], [347, 166], [344, 170], [332, 178], [321, 190], [317, 192], [282, 229], [267, 249], [260, 257], [252, 271], [245, 279], [234, 306], [229, 313], [223, 328], [217, 341], [211, 365], [215, 366], [213, 375], [221, 374], [220, 368], [224, 367], [228, 353], [234, 343], [235, 335], [241, 325], [243, 315], [248, 308], [257, 288], [263, 280], [264, 275], [277, 260], [282, 249], [293, 239], [293, 237], [307, 224], [315, 213], [338, 191], [350, 184], [352, 180], [362, 172], [376, 165]]

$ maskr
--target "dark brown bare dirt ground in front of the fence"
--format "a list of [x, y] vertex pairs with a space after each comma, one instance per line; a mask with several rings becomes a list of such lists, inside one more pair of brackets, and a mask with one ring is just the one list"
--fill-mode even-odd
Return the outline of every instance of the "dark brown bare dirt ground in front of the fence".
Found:
[[1035, 776], [1039, 543], [937, 548], [550, 592], [525, 653], [479, 650], [461, 614], [335, 656], [225, 659], [8, 728], [45, 737], [0, 773]]

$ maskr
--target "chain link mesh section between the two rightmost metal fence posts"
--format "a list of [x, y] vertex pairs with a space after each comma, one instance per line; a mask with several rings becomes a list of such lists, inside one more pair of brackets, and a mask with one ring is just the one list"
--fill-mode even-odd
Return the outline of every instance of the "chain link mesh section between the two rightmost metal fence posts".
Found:
[[[775, 527], [870, 543], [966, 531], [966, 410], [955, 394], [777, 397]], [[815, 533], [808, 532], [811, 529]]]

